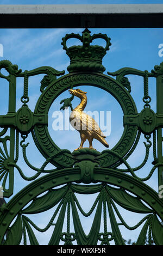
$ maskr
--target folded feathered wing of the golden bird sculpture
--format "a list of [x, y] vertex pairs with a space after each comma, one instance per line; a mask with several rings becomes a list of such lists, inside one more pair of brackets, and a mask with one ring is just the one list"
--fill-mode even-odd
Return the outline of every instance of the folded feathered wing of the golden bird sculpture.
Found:
[[82, 129], [83, 130], [90, 130], [90, 131], [96, 132], [96, 133], [98, 133], [99, 136], [106, 138], [106, 136], [104, 136], [103, 132], [99, 128], [96, 121], [90, 115], [85, 114], [83, 112], [81, 115], [81, 118], [82, 118]]

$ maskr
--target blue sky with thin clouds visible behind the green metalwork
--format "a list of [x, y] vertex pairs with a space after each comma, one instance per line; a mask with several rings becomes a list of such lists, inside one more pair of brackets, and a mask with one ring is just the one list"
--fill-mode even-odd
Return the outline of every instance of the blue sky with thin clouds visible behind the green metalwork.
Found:
[[[82, 1], [82, 4], [98, 4], [99, 1]], [[148, 4], [148, 3], [162, 3], [162, 1], [101, 1], [101, 4]], [[45, 4], [45, 1], [0, 1], [0, 4]], [[46, 4], [81, 4], [81, 1], [46, 1]], [[1, 5], [0, 5], [1, 8]], [[65, 51], [62, 50], [61, 38], [65, 36], [66, 33], [82, 33], [83, 29], [0, 29], [0, 44], [3, 45], [3, 57], [2, 59], [8, 59], [12, 64], [17, 64], [18, 68], [24, 70], [32, 70], [39, 66], [52, 66], [53, 68], [61, 71], [65, 70], [67, 74], [67, 66], [70, 63], [70, 59], [66, 55]], [[104, 74], [107, 71], [113, 72], [123, 67], [131, 67], [140, 70], [148, 70], [151, 72], [154, 65], [159, 65], [163, 61], [163, 57], [159, 57], [159, 45], [163, 44], [163, 28], [134, 28], [134, 29], [90, 29], [93, 33], [106, 33], [111, 38], [110, 50], [103, 58], [103, 65], [106, 68]], [[99, 43], [103, 45], [100, 40]], [[79, 44], [77, 40], [71, 40], [69, 45]], [[3, 70], [2, 72], [5, 71]], [[39, 75], [36, 77], [31, 77], [29, 79], [29, 107], [34, 111], [34, 107], [37, 99], [40, 96], [40, 81], [44, 75]], [[143, 79], [137, 76], [128, 76], [131, 83], [131, 95], [136, 103], [138, 112], [143, 108]], [[122, 136], [123, 132], [123, 112], [118, 105], [118, 102], [111, 95], [106, 95], [102, 90], [88, 86], [80, 87], [87, 92], [87, 106], [86, 111], [111, 111], [111, 134], [106, 138], [109, 143], [109, 149], [114, 147], [118, 140]], [[0, 114], [6, 114], [8, 111], [8, 83], [1, 79], [1, 90], [0, 95]], [[16, 108], [21, 107], [20, 98], [23, 94], [23, 80], [22, 78], [17, 79], [17, 101]], [[73, 149], [77, 148], [80, 143], [79, 133], [77, 131], [53, 131], [52, 114], [55, 110], [59, 110], [59, 102], [65, 97], [69, 97], [69, 93], [65, 92], [60, 95], [53, 103], [49, 111], [49, 133], [55, 143], [61, 149]], [[151, 106], [154, 111], [156, 111], [156, 86], [155, 79], [151, 78], [149, 80], [149, 95], [152, 97]], [[78, 99], [74, 99], [73, 107], [78, 104]], [[145, 147], [143, 145], [145, 141], [143, 135], [139, 143], [139, 147], [135, 150], [133, 156], [129, 159], [129, 164], [131, 167], [139, 166], [143, 161], [145, 156]], [[36, 166], [40, 167], [44, 162], [43, 157], [35, 148], [31, 136], [28, 136], [27, 142], [30, 142], [27, 148], [27, 156], [30, 162]], [[86, 144], [85, 147], [87, 147]], [[93, 143], [93, 147], [97, 150], [104, 150], [104, 146], [98, 141]], [[33, 154], [30, 154], [30, 153]], [[150, 155], [147, 166], [142, 170], [136, 172], [141, 178], [148, 175], [149, 170], [153, 167], [151, 162], [152, 154]], [[40, 164], [41, 163], [41, 164]], [[32, 176], [35, 174], [33, 170], [30, 170], [26, 163], [24, 163], [22, 156], [20, 155], [20, 160], [18, 165], [22, 167], [24, 174], [27, 176]], [[49, 164], [47, 168], [51, 165]], [[20, 191], [24, 186], [28, 185], [27, 181], [22, 180], [17, 171], [15, 171], [15, 190], [14, 194]], [[157, 186], [157, 173], [156, 170], [152, 175], [152, 178], [146, 182], [149, 186], [153, 187], [154, 190], [158, 190]], [[80, 198], [83, 200], [83, 198]], [[7, 199], [8, 202], [9, 199]], [[90, 198], [91, 202], [93, 196]], [[90, 204], [88, 205], [83, 201], [83, 208], [85, 211], [89, 211]], [[52, 210], [48, 212], [49, 216], [52, 214]], [[128, 221], [128, 224], [136, 224], [141, 217], [135, 215], [131, 217], [130, 213], [127, 214], [126, 211], [122, 211], [124, 219]], [[133, 216], [133, 214], [132, 214]], [[33, 219], [32, 219], [33, 220]], [[39, 227], [45, 227], [47, 221], [45, 220], [45, 215], [40, 215], [37, 218], [37, 225]], [[87, 227], [87, 231], [90, 227], [90, 221], [85, 220], [84, 225]], [[142, 225], [141, 225], [142, 227]], [[53, 227], [52, 227], [53, 228]], [[52, 233], [52, 228], [47, 231], [46, 236], [39, 236], [40, 243], [47, 243], [48, 236]], [[127, 232], [123, 230], [123, 236], [125, 239], [131, 238], [135, 240], [138, 233]], [[38, 234], [39, 235], [39, 234]]]

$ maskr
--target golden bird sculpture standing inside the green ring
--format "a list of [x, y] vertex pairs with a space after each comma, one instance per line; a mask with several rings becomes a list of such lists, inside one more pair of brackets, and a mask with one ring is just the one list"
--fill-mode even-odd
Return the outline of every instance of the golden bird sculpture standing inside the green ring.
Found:
[[70, 114], [70, 124], [74, 129], [80, 132], [81, 138], [80, 146], [75, 150], [82, 149], [86, 139], [89, 141], [89, 149], [93, 149], [93, 139], [97, 139], [106, 148], [109, 148], [108, 143], [104, 139], [106, 136], [104, 136], [96, 121], [90, 115], [83, 112], [87, 103], [86, 92], [83, 92], [80, 89], [70, 89], [68, 92], [74, 96], [79, 97], [81, 100], [79, 105], [74, 108]]

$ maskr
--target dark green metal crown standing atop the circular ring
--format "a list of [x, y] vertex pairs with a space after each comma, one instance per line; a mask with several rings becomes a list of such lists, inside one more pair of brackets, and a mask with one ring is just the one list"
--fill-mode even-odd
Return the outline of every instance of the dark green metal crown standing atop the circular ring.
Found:
[[[68, 48], [66, 41], [70, 38], [79, 39], [83, 45], [73, 45]], [[102, 38], [106, 41], [105, 48], [99, 45], [90, 45], [90, 43], [97, 38]], [[82, 36], [74, 33], [66, 34], [66, 36], [62, 38], [61, 44], [63, 45], [63, 49], [66, 50], [66, 54], [70, 57], [70, 65], [67, 67], [69, 72], [94, 71], [103, 73], [105, 71], [102, 65], [102, 58], [111, 45], [110, 38], [108, 38], [106, 34], [99, 33], [91, 35], [91, 31], [85, 28], [82, 32]]]

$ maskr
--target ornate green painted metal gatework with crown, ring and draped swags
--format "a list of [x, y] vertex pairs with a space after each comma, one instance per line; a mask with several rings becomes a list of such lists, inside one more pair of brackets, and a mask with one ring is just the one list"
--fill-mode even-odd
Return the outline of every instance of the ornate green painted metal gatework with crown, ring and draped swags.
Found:
[[[83, 42], [83, 46], [68, 48], [66, 41], [70, 38], [78, 38]], [[90, 45], [96, 38], [104, 39], [106, 47]], [[65, 245], [74, 243], [109, 245], [112, 240], [115, 245], [125, 245], [120, 226], [135, 230], [141, 225], [136, 245], [145, 245], [147, 236], [149, 245], [152, 245], [152, 239], [155, 245], [163, 245], [163, 226], [160, 222], [160, 219], [163, 221], [163, 201], [158, 193], [144, 182], [151, 178], [157, 168], [158, 185], [163, 185], [163, 63], [155, 66], [151, 72], [122, 68], [104, 75], [102, 58], [111, 45], [107, 35], [91, 35], [91, 32], [85, 29], [82, 35], [67, 34], [62, 38], [62, 45], [71, 59], [67, 75], [64, 75], [65, 71], [57, 71], [49, 66], [22, 72], [9, 60], [0, 62], [0, 77], [9, 82], [8, 113], [0, 116], [0, 126], [3, 128], [0, 132], [0, 181], [4, 197], [9, 198], [13, 194], [16, 186], [15, 169], [22, 179], [33, 181], [12, 197], [8, 204], [0, 208], [0, 244], [19, 245], [22, 241], [27, 245], [28, 237], [30, 245], [39, 245], [34, 230], [43, 233], [54, 226], [52, 236], [49, 237], [49, 245], [59, 245], [61, 241]], [[9, 72], [8, 76], [1, 74], [2, 68]], [[45, 74], [45, 76], [41, 81], [41, 95], [32, 112], [28, 107], [28, 78], [38, 74]], [[126, 77], [129, 74], [144, 78], [142, 101], [145, 104], [140, 113], [137, 113], [135, 102], [130, 95], [131, 86]], [[60, 77], [57, 78], [57, 76]], [[116, 79], [111, 76], [116, 76]], [[22, 107], [16, 112], [17, 77], [24, 77], [24, 92], [21, 97]], [[156, 78], [156, 113], [149, 105], [151, 102], [151, 96], [148, 95], [149, 77]], [[101, 88], [120, 103], [124, 131], [120, 141], [112, 149], [98, 152], [83, 148], [71, 153], [68, 149], [61, 150], [49, 135], [48, 112], [54, 100], [65, 90], [83, 85]], [[64, 110], [68, 106], [72, 109], [72, 100], [73, 96], [62, 100], [60, 103], [63, 105], [60, 109]], [[10, 133], [6, 135], [8, 130]], [[33, 166], [27, 158], [26, 150], [29, 143], [26, 139], [29, 133], [32, 133], [37, 149], [45, 157], [45, 162], [40, 168]], [[131, 168], [127, 160], [137, 147], [141, 134], [146, 140], [144, 142], [145, 158], [139, 166]], [[20, 136], [21, 141], [19, 141]], [[9, 151], [7, 142], [10, 144]], [[135, 172], [145, 166], [152, 148], [154, 166], [145, 178], [140, 178]], [[27, 177], [17, 165], [19, 149], [22, 150], [26, 164], [36, 171], [33, 176]], [[48, 163], [53, 164], [54, 169], [45, 169]], [[122, 163], [126, 169], [120, 168]], [[42, 173], [45, 175], [38, 178]], [[46, 193], [40, 197], [44, 192]], [[85, 212], [76, 194], [95, 193], [97, 193], [95, 202], [90, 206], [89, 212]], [[136, 225], [130, 227], [123, 220], [119, 206], [129, 212], [143, 214], [143, 217]], [[37, 227], [28, 217], [28, 215], [39, 214], [53, 208], [54, 213], [45, 228]], [[88, 235], [85, 234], [79, 212], [84, 217], [93, 215]], [[117, 221], [117, 217], [120, 221]], [[66, 230], [64, 230], [65, 218]], [[101, 231], [102, 225], [103, 231]], [[7, 234], [6, 237], [5, 234]]]

